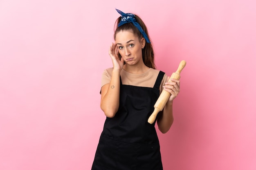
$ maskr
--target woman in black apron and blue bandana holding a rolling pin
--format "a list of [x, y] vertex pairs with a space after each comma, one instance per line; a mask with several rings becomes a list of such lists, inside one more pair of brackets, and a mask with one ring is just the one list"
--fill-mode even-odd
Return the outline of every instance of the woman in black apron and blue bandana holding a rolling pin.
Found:
[[[104, 70], [101, 109], [106, 121], [92, 170], [162, 170], [155, 122], [162, 133], [173, 123], [173, 99], [180, 81], [155, 69], [154, 52], [144, 22], [117, 10], [115, 43], [109, 49], [113, 68]], [[147, 122], [160, 92], [171, 93], [153, 124]]]

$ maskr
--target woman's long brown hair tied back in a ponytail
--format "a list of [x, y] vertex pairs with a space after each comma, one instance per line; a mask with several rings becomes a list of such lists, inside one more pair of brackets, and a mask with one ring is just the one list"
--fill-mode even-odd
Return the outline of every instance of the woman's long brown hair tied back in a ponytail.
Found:
[[[148, 36], [148, 39], [150, 41], [150, 37], [148, 35], [148, 29], [146, 27], [146, 25], [144, 24], [144, 22], [141, 20], [141, 18], [137, 15], [135, 15], [135, 19], [136, 21], [139, 23], [139, 25], [141, 26], [141, 28], [144, 30], [144, 32], [146, 33], [146, 35]], [[123, 24], [121, 26], [118, 27], [119, 22], [121, 21], [121, 16], [119, 18], [117, 18], [116, 22], [115, 22], [115, 33], [114, 33], [114, 39], [116, 38], [116, 34], [119, 31], [124, 31], [124, 30], [132, 30], [132, 32], [137, 35], [138, 37], [142, 37], [141, 32], [139, 32], [138, 28], [135, 27], [132, 22]], [[119, 58], [121, 59], [121, 55], [119, 54]], [[146, 66], [148, 66], [149, 68], [153, 68], [155, 69], [155, 60], [154, 60], [154, 50], [153, 50], [153, 46], [151, 43], [147, 43], [145, 44], [144, 48], [142, 49], [142, 59], [143, 62]]]

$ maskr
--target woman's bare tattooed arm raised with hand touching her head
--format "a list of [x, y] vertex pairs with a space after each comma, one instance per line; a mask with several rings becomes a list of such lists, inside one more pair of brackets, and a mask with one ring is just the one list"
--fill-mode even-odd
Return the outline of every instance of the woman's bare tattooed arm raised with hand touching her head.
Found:
[[113, 118], [119, 108], [120, 72], [124, 66], [124, 59], [118, 59], [117, 45], [114, 43], [109, 48], [113, 70], [110, 83], [101, 87], [101, 109], [108, 118]]

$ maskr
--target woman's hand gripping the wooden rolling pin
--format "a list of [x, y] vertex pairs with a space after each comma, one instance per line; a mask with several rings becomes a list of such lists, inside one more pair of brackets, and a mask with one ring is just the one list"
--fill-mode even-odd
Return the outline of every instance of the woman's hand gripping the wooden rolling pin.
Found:
[[[168, 76], [167, 80], [169, 80], [169, 78], [170, 77]], [[166, 82], [163, 87], [165, 91], [171, 93], [168, 101], [173, 101], [173, 99], [177, 97], [180, 92], [180, 81], [177, 79], [171, 79], [171, 81]]]

